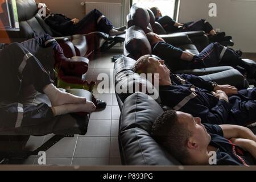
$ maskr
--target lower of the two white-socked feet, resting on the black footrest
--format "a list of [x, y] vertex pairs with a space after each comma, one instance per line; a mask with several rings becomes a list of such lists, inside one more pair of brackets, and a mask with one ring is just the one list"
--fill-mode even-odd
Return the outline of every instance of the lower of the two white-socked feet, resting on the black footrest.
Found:
[[64, 104], [60, 106], [52, 107], [55, 116], [68, 113], [92, 113], [96, 109], [93, 102], [86, 101], [86, 104]]

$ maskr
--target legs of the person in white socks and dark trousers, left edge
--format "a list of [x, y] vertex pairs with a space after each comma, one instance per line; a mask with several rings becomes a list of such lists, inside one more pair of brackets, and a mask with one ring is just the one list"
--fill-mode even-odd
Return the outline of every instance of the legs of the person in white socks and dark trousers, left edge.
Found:
[[[47, 60], [41, 60], [47, 61]], [[90, 113], [96, 109], [86, 98], [65, 93], [52, 84], [43, 64], [23, 44], [13, 43], [0, 53], [0, 115], [1, 129], [39, 125], [51, 121], [57, 115], [68, 113]], [[22, 87], [33, 85], [45, 93], [51, 107], [42, 103], [23, 106], [18, 102]]]

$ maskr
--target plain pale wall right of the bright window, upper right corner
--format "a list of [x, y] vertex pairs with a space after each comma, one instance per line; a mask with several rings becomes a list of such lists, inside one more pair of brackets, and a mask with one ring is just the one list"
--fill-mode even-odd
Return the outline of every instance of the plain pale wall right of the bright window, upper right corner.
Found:
[[[217, 17], [209, 17], [209, 3], [217, 4]], [[179, 22], [207, 19], [214, 28], [233, 36], [234, 49], [256, 52], [256, 1], [180, 0]]]

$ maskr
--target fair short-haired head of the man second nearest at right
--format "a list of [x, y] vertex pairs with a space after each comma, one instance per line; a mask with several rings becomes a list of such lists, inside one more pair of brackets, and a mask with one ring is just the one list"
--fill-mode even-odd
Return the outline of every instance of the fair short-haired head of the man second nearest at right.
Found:
[[[154, 77], [156, 73], [159, 78], [159, 85], [170, 85], [170, 70], [164, 65], [164, 60], [158, 60], [151, 55], [145, 55], [140, 57], [134, 64], [132, 70], [138, 74], [152, 73]], [[147, 77], [148, 78], [148, 77]], [[154, 80], [154, 78], [152, 78]]]

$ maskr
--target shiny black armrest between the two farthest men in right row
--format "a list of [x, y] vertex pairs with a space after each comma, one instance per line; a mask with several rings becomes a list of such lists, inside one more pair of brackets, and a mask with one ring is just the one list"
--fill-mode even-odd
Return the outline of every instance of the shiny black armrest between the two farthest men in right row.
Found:
[[191, 40], [186, 34], [167, 34], [159, 35], [160, 38], [163, 38], [167, 43], [172, 45], [182, 45], [182, 44], [192, 44]]

